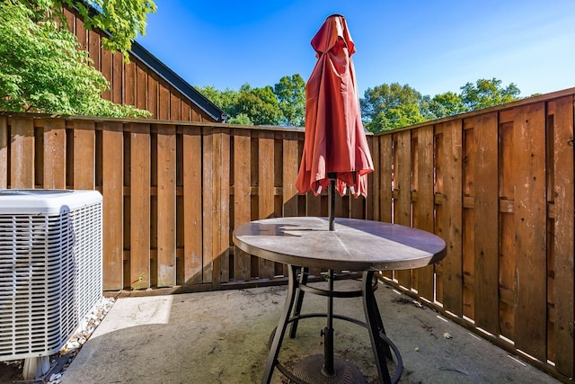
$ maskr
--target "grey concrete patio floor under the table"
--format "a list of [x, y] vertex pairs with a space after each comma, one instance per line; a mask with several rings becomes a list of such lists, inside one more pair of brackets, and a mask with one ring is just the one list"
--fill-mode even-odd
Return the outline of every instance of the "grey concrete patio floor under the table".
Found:
[[[336, 288], [356, 283], [337, 281]], [[286, 287], [266, 287], [118, 299], [61, 382], [260, 382], [285, 297]], [[376, 298], [386, 333], [402, 353], [400, 383], [559, 382], [385, 284]], [[325, 302], [307, 294], [303, 312], [324, 312]], [[360, 299], [335, 299], [334, 309], [363, 319]], [[300, 322], [279, 360], [289, 366], [322, 353], [323, 326], [325, 318]], [[376, 382], [367, 330], [337, 319], [334, 328], [336, 353], [355, 362], [368, 383]], [[276, 370], [272, 383], [287, 382]]]

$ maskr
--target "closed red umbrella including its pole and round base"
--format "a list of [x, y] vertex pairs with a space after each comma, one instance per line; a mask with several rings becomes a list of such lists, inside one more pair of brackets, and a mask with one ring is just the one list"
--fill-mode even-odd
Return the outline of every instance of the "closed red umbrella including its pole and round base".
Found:
[[[359, 111], [355, 68], [351, 59], [356, 49], [345, 18], [340, 14], [329, 16], [311, 43], [317, 62], [305, 85], [305, 143], [296, 188], [300, 193], [311, 190], [318, 195], [330, 187], [329, 230], [332, 231], [335, 191], [343, 196], [349, 186], [353, 196], [367, 196], [367, 174], [373, 172], [374, 165]], [[306, 272], [302, 269], [301, 282], [304, 284]], [[310, 356], [298, 362], [295, 371], [303, 372], [301, 378], [309, 379], [306, 382], [365, 382], [355, 366], [342, 359], [334, 359], [333, 278], [330, 270], [327, 280], [331, 293], [326, 294], [327, 326], [322, 332], [323, 359]], [[303, 294], [301, 290], [297, 292], [295, 317], [299, 316]], [[297, 321], [290, 333], [292, 337], [296, 334], [296, 326]]]

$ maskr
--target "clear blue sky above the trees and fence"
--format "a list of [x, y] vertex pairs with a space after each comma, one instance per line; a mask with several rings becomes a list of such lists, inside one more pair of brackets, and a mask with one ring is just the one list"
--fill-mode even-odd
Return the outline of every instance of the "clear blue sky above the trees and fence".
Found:
[[219, 90], [305, 81], [310, 40], [327, 16], [346, 17], [359, 96], [376, 85], [460, 92], [498, 78], [522, 96], [575, 86], [573, 0], [155, 0], [137, 41], [190, 85]]

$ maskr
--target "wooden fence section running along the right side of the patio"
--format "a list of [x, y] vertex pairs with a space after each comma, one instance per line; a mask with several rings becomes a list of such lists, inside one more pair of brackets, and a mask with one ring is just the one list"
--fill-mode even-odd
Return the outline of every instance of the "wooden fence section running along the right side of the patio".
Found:
[[573, 376], [573, 90], [376, 135], [374, 219], [434, 231], [435, 266], [385, 278]]

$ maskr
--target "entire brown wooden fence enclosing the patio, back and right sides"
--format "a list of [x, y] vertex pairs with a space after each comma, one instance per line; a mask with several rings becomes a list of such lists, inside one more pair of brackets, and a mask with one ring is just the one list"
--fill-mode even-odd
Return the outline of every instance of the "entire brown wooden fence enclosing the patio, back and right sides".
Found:
[[[438, 265], [385, 279], [562, 379], [573, 377], [575, 89], [369, 136], [365, 199], [336, 216], [446, 239]], [[325, 216], [299, 195], [302, 129], [0, 114], [0, 188], [96, 189], [104, 289], [283, 281], [235, 226]]]

